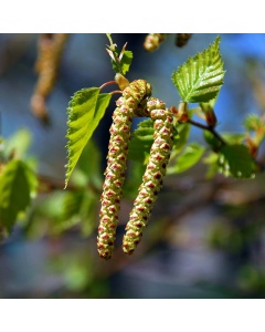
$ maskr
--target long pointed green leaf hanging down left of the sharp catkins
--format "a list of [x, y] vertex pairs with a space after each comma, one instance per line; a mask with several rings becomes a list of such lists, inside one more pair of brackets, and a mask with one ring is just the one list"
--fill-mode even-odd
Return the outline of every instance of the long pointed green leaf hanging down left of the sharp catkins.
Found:
[[99, 87], [77, 91], [68, 103], [67, 113], [67, 172], [65, 188], [78, 158], [105, 114], [112, 94], [99, 94]]

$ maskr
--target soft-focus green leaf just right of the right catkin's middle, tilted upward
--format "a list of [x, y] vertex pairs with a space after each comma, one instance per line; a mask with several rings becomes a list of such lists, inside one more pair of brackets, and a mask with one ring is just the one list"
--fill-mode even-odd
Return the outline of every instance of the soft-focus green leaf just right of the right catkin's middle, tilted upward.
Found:
[[[202, 157], [205, 147], [197, 143], [190, 143], [178, 156], [174, 165], [169, 165], [167, 174], [177, 174], [186, 172], [194, 166]], [[171, 164], [171, 163], [170, 163]]]

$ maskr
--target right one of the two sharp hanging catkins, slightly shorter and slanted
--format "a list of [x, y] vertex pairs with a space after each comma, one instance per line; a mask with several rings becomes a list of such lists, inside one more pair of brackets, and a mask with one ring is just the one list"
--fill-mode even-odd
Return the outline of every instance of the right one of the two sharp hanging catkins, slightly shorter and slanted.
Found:
[[162, 178], [166, 175], [173, 145], [173, 118], [172, 113], [166, 108], [166, 104], [151, 97], [147, 102], [147, 111], [153, 120], [153, 144], [123, 240], [123, 250], [129, 255], [135, 251], [136, 246], [140, 242], [142, 229], [150, 218], [158, 191], [162, 186]]

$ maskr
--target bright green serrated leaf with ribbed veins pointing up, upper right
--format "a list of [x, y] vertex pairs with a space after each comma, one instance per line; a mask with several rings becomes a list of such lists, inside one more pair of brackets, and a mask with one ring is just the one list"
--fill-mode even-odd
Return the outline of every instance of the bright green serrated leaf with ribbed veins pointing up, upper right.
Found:
[[223, 62], [220, 55], [220, 37], [203, 52], [178, 68], [172, 82], [181, 98], [189, 103], [206, 103], [216, 97], [223, 85]]

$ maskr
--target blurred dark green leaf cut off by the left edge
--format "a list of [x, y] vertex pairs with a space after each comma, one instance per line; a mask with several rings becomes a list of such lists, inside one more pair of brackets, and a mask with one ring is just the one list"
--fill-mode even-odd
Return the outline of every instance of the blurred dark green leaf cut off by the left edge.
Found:
[[35, 194], [36, 176], [19, 159], [11, 160], [0, 176], [0, 225], [8, 231], [13, 227], [18, 214], [24, 211]]

